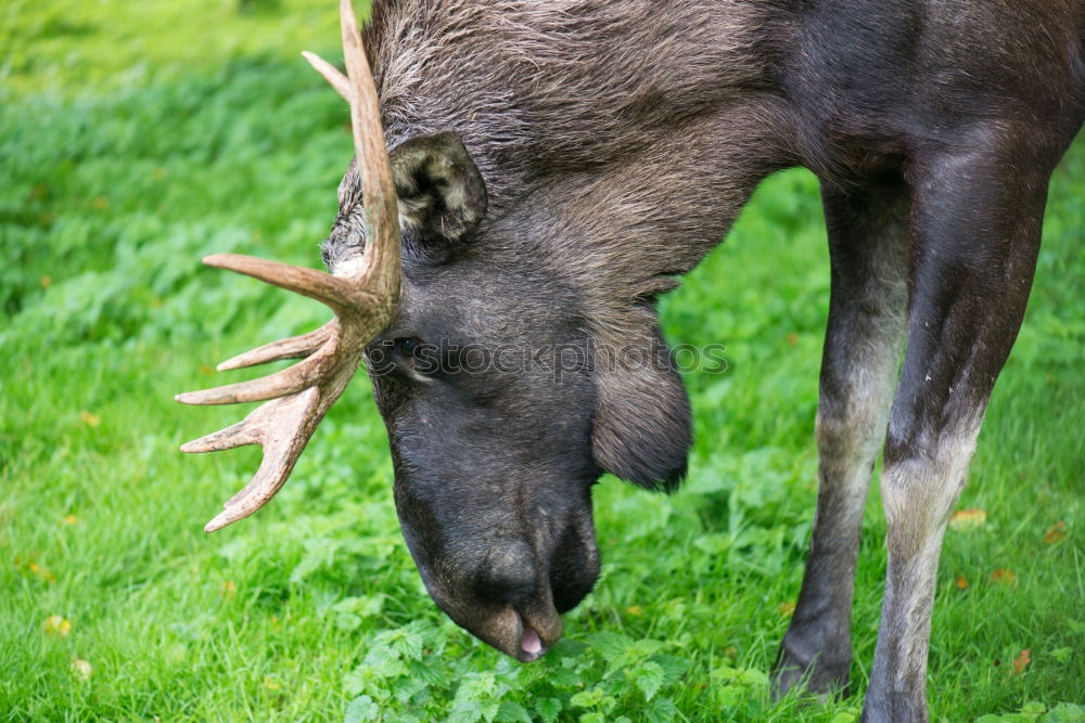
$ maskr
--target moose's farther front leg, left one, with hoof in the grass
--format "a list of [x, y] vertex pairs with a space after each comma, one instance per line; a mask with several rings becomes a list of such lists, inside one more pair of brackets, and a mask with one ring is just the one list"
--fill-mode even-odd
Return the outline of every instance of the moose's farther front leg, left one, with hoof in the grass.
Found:
[[821, 195], [832, 291], [816, 424], [819, 489], [806, 574], [776, 662], [779, 695], [803, 680], [815, 693], [847, 686], [859, 529], [907, 311], [906, 188], [824, 185]]

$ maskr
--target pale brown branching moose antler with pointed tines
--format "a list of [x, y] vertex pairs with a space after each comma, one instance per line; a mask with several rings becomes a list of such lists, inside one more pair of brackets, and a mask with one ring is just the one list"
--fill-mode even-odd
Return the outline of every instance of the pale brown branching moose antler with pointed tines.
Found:
[[186, 404], [233, 404], [267, 401], [244, 421], [181, 447], [182, 452], [217, 452], [244, 444], [264, 448], [260, 468], [204, 530], [214, 532], [248, 517], [283, 486], [320, 419], [335, 403], [361, 361], [366, 345], [383, 330], [399, 300], [399, 222], [392, 164], [381, 128], [376, 88], [361, 47], [350, 0], [340, 0], [343, 54], [347, 76], [312, 53], [303, 53], [350, 104], [354, 147], [362, 179], [368, 247], [349, 275], [332, 276], [251, 256], [217, 254], [207, 266], [247, 274], [317, 299], [335, 319], [303, 336], [254, 349], [218, 365], [219, 371], [299, 359], [269, 376], [177, 396]]

